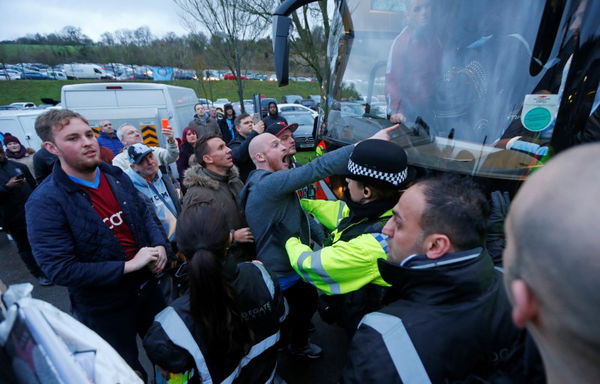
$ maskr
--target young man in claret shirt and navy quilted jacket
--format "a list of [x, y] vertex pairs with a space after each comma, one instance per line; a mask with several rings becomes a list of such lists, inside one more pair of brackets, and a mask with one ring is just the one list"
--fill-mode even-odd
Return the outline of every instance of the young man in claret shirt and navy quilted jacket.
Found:
[[127, 175], [100, 162], [84, 117], [51, 110], [35, 129], [59, 162], [25, 206], [34, 257], [69, 289], [73, 314], [145, 377], [136, 334], [165, 306], [152, 274], [165, 266], [167, 240]]

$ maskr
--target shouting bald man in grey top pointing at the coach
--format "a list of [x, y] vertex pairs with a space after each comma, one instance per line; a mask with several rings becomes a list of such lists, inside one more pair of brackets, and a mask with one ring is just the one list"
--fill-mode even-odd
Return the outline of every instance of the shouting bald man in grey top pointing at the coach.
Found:
[[[397, 126], [383, 129], [372, 138], [389, 141]], [[296, 190], [334, 174], [342, 174], [353, 145], [329, 152], [302, 167], [289, 168], [289, 153], [283, 143], [270, 133], [252, 139], [248, 152], [256, 165], [242, 189], [246, 220], [256, 242], [258, 259], [279, 280], [290, 313], [284, 324], [288, 351], [305, 358], [318, 358], [321, 348], [308, 341], [310, 319], [317, 308], [316, 289], [303, 282], [292, 269], [283, 242], [273, 236], [278, 231], [297, 235], [303, 244], [311, 244], [310, 220], [302, 210]], [[289, 237], [289, 236], [288, 236]]]

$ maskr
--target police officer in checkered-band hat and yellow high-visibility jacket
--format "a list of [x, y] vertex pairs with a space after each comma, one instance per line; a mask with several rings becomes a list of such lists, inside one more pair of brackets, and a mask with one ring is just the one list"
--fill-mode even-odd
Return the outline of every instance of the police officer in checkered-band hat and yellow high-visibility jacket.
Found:
[[387, 286], [377, 269], [387, 250], [381, 230], [414, 170], [399, 145], [366, 140], [352, 152], [345, 176], [344, 201], [301, 200], [305, 211], [333, 231], [324, 247], [313, 250], [298, 237], [285, 245], [296, 272], [327, 295], [321, 316], [351, 334], [364, 314], [380, 306], [379, 287]]

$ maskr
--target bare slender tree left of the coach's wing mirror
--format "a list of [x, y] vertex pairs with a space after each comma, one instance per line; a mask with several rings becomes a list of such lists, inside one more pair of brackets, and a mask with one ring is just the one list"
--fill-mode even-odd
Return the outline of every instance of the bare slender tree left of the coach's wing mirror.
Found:
[[241, 66], [251, 54], [246, 41], [264, 33], [265, 18], [246, 12], [239, 0], [173, 0], [181, 9], [180, 17], [192, 32], [206, 29], [211, 38], [210, 53], [221, 57], [235, 76], [244, 110], [244, 87]]

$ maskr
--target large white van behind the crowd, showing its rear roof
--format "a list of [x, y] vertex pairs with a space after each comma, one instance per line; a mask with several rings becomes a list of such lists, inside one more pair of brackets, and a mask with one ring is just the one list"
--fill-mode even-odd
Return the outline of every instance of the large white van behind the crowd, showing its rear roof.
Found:
[[193, 89], [158, 83], [73, 84], [61, 90], [61, 106], [83, 115], [90, 126], [98, 127], [102, 120], [110, 120], [115, 129], [131, 123], [142, 135], [144, 127], [153, 127], [162, 146], [161, 119], [169, 119], [175, 137], [181, 137], [197, 103]]

